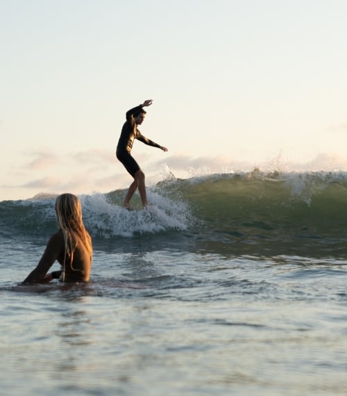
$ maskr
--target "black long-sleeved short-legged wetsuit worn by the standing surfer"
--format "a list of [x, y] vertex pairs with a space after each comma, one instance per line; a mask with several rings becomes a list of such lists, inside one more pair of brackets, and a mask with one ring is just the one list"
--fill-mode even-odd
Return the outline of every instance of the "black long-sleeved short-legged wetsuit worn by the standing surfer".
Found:
[[119, 137], [116, 151], [117, 158], [121, 161], [126, 170], [131, 174], [131, 176], [134, 176], [135, 173], [139, 170], [139, 164], [130, 154], [130, 151], [133, 148], [134, 140], [140, 140], [145, 145], [149, 145], [152, 147], [160, 147], [160, 145], [158, 145], [157, 143], [147, 139], [137, 129], [137, 124], [133, 115], [141, 109], [142, 105], [139, 105], [131, 108], [126, 112], [126, 122], [121, 129], [121, 135]]

